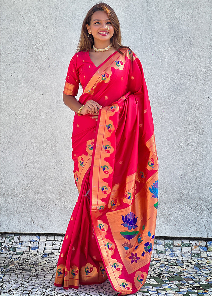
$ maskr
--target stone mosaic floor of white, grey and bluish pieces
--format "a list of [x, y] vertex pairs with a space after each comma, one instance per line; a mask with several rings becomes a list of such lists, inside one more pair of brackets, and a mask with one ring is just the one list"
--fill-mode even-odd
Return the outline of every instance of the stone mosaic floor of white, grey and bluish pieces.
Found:
[[[115, 296], [103, 284], [63, 290], [54, 286], [61, 236], [2, 235], [2, 296]], [[212, 295], [212, 241], [156, 239], [149, 274], [137, 296]]]

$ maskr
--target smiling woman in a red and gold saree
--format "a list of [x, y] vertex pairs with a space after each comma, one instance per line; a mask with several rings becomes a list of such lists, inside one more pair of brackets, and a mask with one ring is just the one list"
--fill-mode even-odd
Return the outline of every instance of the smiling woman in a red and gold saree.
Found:
[[[83, 94], [75, 99], [79, 83]], [[118, 18], [105, 3], [86, 15], [66, 77], [75, 111], [72, 157], [79, 197], [63, 241], [55, 286], [107, 278], [119, 295], [144, 284], [158, 197], [158, 162], [141, 63], [121, 45]]]

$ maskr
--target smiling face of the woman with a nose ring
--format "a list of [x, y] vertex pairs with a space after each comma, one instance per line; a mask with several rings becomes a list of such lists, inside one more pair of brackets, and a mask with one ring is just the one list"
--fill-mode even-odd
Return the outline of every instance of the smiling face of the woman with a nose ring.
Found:
[[[110, 28], [108, 31], [107, 27]], [[94, 37], [97, 42], [105, 42], [110, 40], [114, 34], [114, 27], [111, 25], [111, 21], [108, 18], [108, 15], [103, 11], [95, 11], [91, 17], [90, 26], [87, 24], [88, 32]]]

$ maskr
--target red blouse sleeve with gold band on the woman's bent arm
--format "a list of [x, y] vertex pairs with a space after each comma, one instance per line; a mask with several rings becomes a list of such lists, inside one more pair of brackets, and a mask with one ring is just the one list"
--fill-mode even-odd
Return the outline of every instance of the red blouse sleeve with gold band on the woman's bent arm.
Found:
[[65, 79], [65, 87], [63, 93], [69, 96], [76, 96], [79, 89], [79, 73], [77, 69], [76, 54], [71, 59], [68, 66], [68, 73]]

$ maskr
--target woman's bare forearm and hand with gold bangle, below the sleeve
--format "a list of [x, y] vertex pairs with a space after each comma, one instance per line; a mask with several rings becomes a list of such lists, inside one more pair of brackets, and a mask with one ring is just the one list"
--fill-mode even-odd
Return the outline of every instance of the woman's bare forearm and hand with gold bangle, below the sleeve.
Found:
[[[78, 110], [81, 108], [82, 104], [78, 102], [78, 100], [73, 97], [66, 95], [63, 93], [63, 102], [68, 108], [73, 110], [74, 112], [78, 112]], [[102, 106], [99, 105], [97, 102], [93, 100], [89, 100], [85, 103], [83, 108], [81, 109], [80, 114], [86, 115], [86, 114], [91, 114], [91, 115], [98, 115], [99, 109], [101, 109]]]

